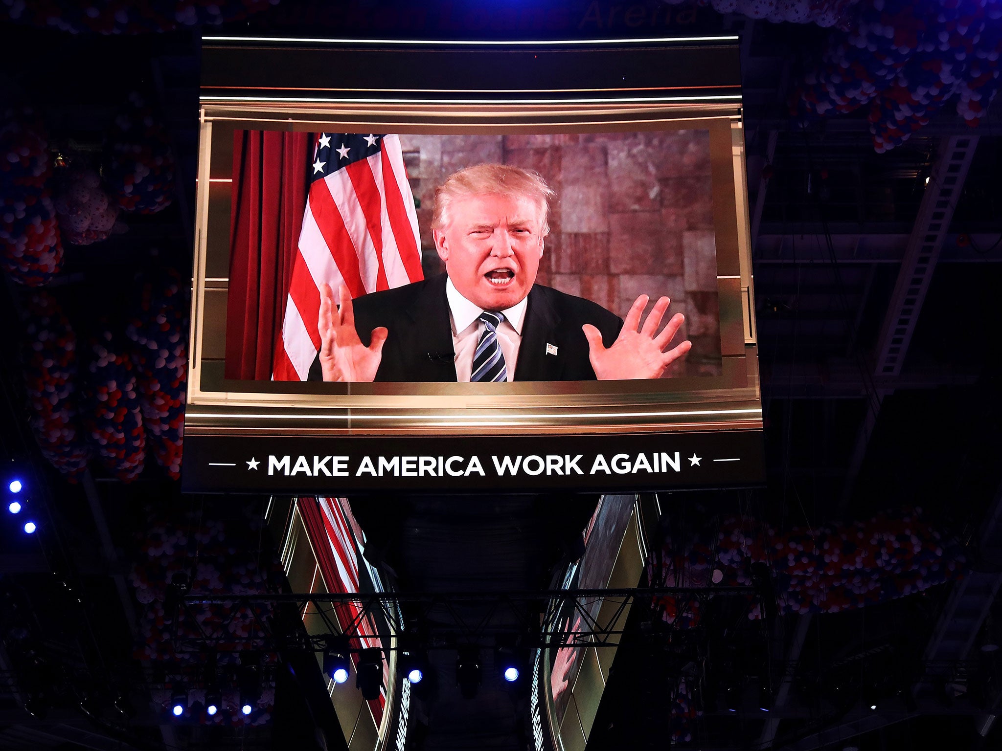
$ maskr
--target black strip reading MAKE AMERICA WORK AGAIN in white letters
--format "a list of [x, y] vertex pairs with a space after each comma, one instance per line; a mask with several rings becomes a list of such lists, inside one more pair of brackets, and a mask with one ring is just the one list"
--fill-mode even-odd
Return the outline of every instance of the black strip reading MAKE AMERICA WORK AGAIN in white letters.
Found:
[[741, 486], [765, 476], [762, 437], [753, 431], [559, 441], [192, 436], [185, 444], [196, 459], [185, 464], [183, 483], [206, 492], [611, 493]]

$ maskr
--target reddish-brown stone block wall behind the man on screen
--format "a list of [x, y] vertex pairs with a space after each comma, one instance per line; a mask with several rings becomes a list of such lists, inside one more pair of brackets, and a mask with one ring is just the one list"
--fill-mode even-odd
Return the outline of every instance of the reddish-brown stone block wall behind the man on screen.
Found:
[[[692, 340], [666, 376], [721, 369], [709, 134], [400, 136], [426, 275], [444, 270], [432, 240], [435, 188], [457, 169], [501, 162], [534, 169], [556, 193], [538, 281], [625, 316], [639, 294], [671, 298], [676, 338]], [[653, 303], [648, 304], [648, 310]]]

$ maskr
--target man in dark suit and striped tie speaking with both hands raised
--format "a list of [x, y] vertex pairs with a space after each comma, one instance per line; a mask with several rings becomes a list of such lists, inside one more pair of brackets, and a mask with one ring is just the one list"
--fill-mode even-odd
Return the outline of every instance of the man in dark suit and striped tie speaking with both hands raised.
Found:
[[[660, 328], [659, 298], [641, 325], [536, 283], [553, 191], [535, 172], [480, 164], [435, 191], [432, 229], [446, 273], [340, 308], [321, 288], [321, 350], [311, 380], [349, 382], [617, 381], [657, 379], [691, 342], [670, 347], [681, 313]], [[658, 330], [660, 328], [660, 330]]]

